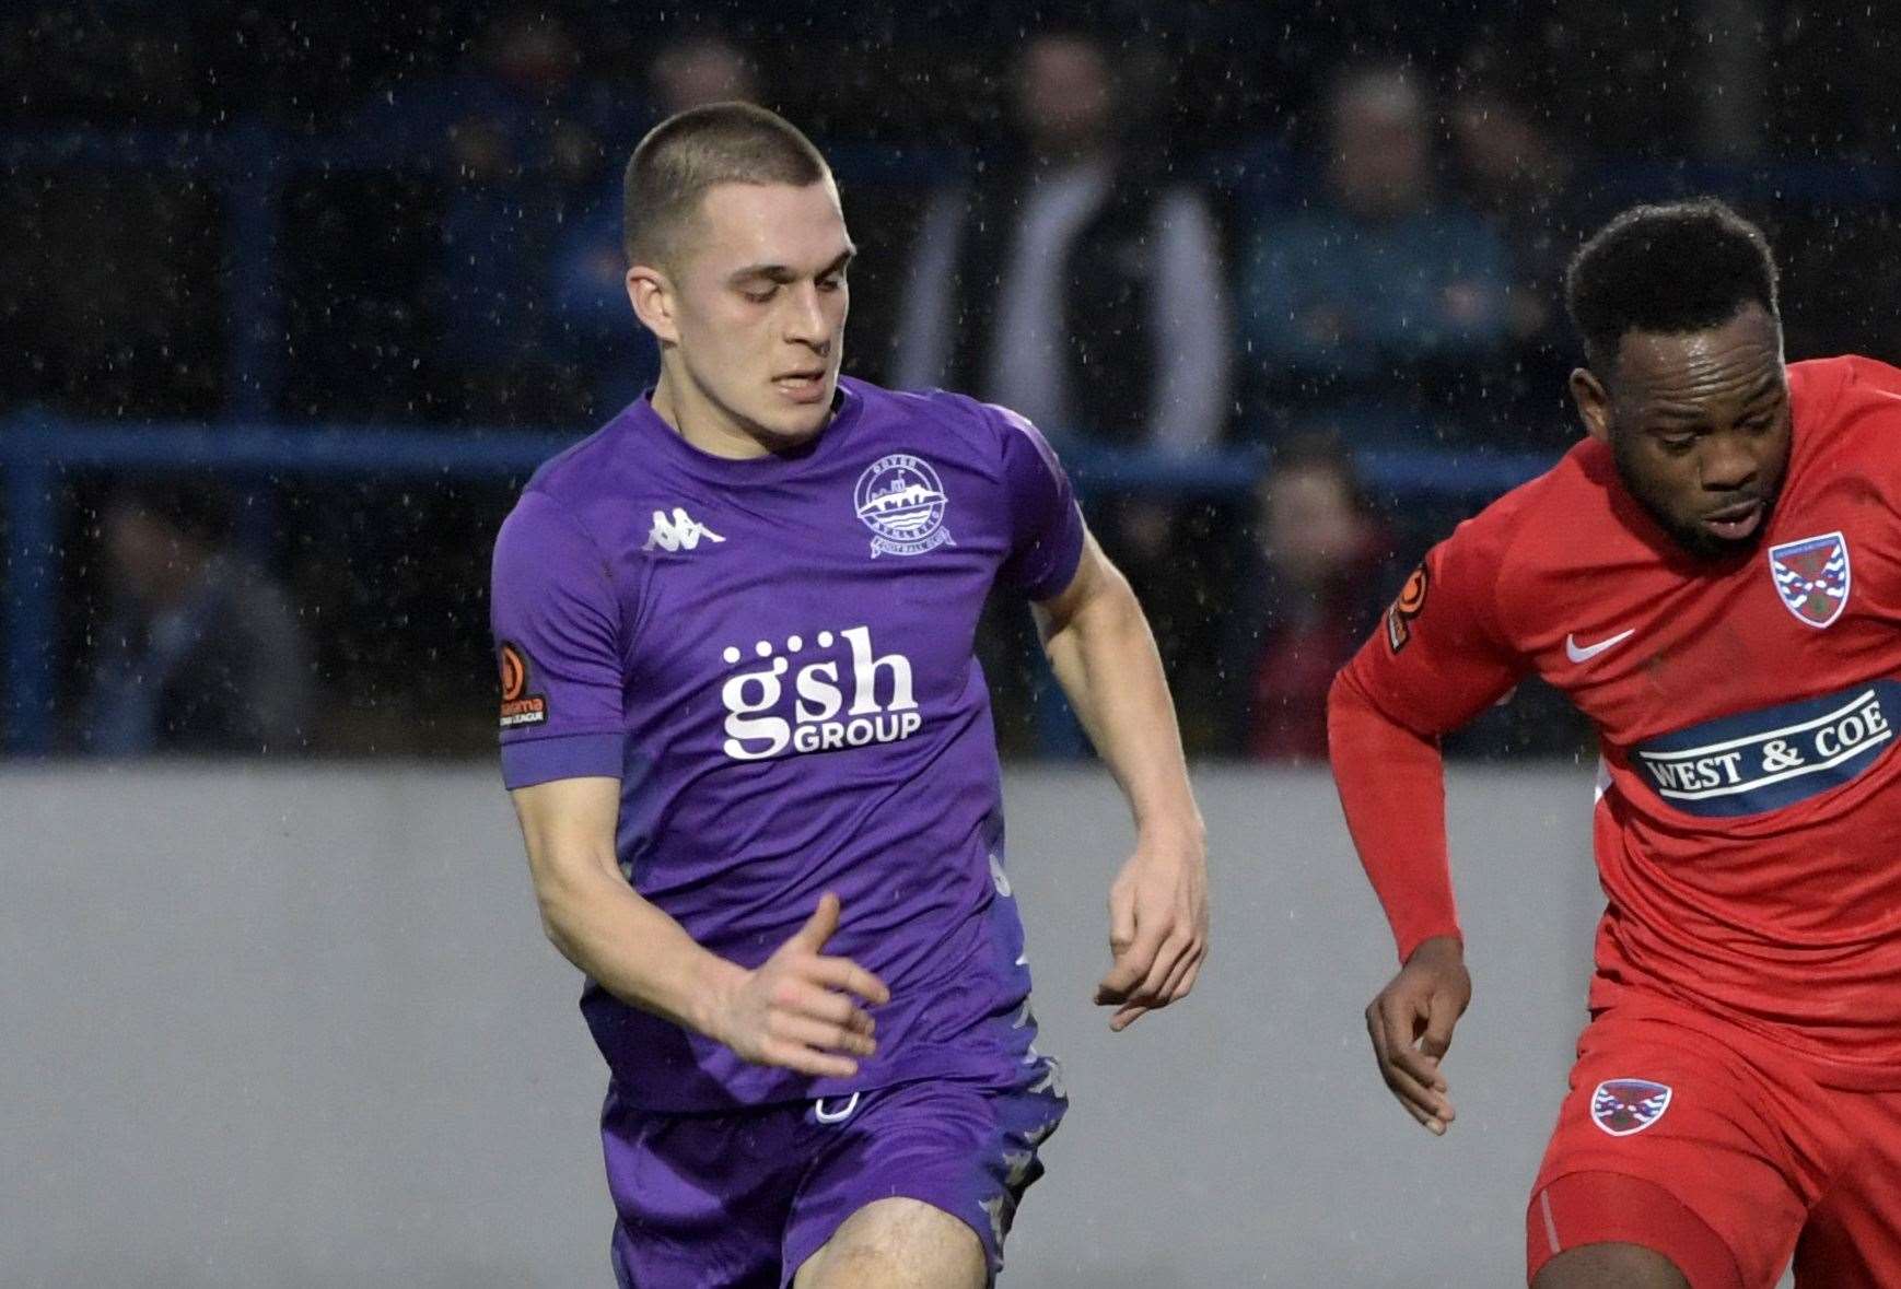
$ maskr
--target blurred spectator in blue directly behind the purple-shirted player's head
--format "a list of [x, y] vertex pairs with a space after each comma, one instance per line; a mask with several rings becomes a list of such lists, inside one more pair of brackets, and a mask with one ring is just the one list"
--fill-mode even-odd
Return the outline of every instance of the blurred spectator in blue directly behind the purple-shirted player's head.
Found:
[[[686, 36], [662, 46], [646, 68], [648, 120], [633, 137], [675, 112], [707, 103], [758, 101], [758, 80], [745, 51], [720, 36]], [[591, 395], [593, 420], [605, 420], [654, 384], [660, 346], [627, 306], [627, 257], [622, 253], [620, 167], [608, 167], [593, 207], [566, 226], [553, 253], [551, 344], [574, 363]]]

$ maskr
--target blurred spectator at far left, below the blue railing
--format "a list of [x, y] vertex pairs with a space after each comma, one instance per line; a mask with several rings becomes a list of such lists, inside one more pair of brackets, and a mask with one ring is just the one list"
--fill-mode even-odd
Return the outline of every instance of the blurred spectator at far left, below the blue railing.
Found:
[[230, 549], [226, 500], [122, 487], [101, 517], [112, 608], [78, 741], [108, 757], [302, 751], [310, 652], [283, 589]]

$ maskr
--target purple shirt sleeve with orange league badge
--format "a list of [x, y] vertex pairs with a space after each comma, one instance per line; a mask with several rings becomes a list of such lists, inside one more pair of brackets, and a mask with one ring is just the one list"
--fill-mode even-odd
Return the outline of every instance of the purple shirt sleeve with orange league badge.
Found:
[[490, 622], [502, 671], [509, 789], [622, 774], [622, 650], [612, 574], [544, 492], [525, 492], [494, 544]]

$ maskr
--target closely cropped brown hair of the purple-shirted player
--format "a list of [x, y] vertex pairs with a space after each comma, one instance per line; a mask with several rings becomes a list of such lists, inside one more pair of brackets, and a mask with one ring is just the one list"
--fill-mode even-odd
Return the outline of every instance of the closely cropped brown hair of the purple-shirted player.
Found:
[[646, 131], [622, 183], [622, 247], [629, 264], [665, 260], [681, 226], [715, 184], [793, 184], [831, 177], [797, 125], [751, 103], [709, 103]]

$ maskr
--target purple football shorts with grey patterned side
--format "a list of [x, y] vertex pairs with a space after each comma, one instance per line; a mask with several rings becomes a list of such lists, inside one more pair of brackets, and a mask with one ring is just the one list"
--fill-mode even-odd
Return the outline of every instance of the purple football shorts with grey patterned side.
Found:
[[624, 1289], [783, 1289], [848, 1217], [893, 1196], [968, 1222], [994, 1276], [1065, 1108], [1047, 1057], [1009, 1086], [935, 1078], [711, 1114], [637, 1110], [610, 1087], [614, 1276]]

